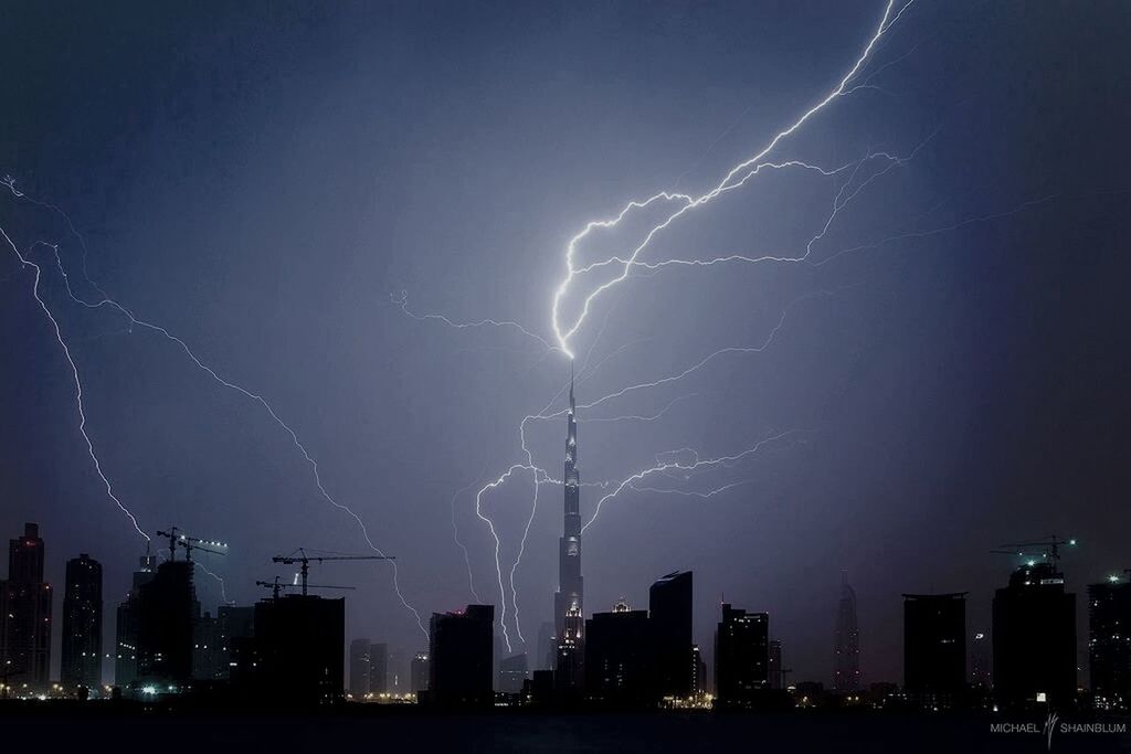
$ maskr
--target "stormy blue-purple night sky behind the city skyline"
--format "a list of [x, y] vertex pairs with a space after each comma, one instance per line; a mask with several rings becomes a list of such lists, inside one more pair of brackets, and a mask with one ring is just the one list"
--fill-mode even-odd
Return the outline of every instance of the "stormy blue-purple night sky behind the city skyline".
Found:
[[[36, 241], [59, 244], [76, 295], [98, 301], [96, 283], [262, 396], [327, 492], [397, 557], [426, 624], [474, 599], [454, 526], [475, 591], [501, 605], [475, 493], [525, 462], [524, 416], [555, 396], [550, 410], [564, 408], [569, 361], [538, 338], [554, 343], [570, 237], [631, 199], [710, 190], [837, 85], [882, 12], [9, 2], [0, 173], [67, 213], [88, 279], [79, 237], [50, 207], [5, 189], [0, 227], [43, 266], [90, 439], [146, 531], [228, 541], [202, 562], [240, 603], [261, 596], [257, 579], [290, 580], [271, 555], [369, 552], [261, 405], [161, 335], [71, 301]], [[641, 255], [797, 257], [841, 187], [866, 182], [806, 262], [637, 268], [594, 301], [571, 340], [582, 405], [769, 345], [579, 411], [582, 482], [610, 492], [657, 454], [778, 439], [606, 501], [585, 532], [587, 613], [620, 597], [645, 607], [655, 578], [690, 569], [708, 662], [725, 596], [770, 613], [791, 679], [828, 683], [844, 571], [865, 682], [899, 681], [900, 592], [969, 591], [968, 627], [987, 631], [992, 589], [1015, 565], [990, 553], [1002, 543], [1076, 537], [1063, 565], [1077, 592], [1131, 566], [1129, 33], [1125, 2], [918, 0], [855, 80], [866, 86], [769, 156], [913, 157], [871, 181], [882, 158], [855, 174], [766, 172]], [[632, 215], [579, 261], [627, 255], [653, 218]], [[102, 561], [109, 625], [145, 543], [94, 471], [33, 283], [0, 248], [0, 537], [38, 521], [60, 586], [67, 557]], [[579, 304], [567, 297], [563, 313]], [[485, 319], [538, 338], [452, 327]], [[560, 478], [566, 419], [533, 421], [526, 436]], [[561, 487], [541, 485], [515, 570], [524, 647], [508, 579], [533, 492], [519, 470], [481, 497], [509, 638], [532, 652], [562, 526]], [[582, 491], [586, 519], [603, 494]], [[214, 609], [218, 582], [198, 577]], [[314, 580], [357, 587], [347, 639], [402, 658], [426, 645], [388, 565], [327, 564]]]

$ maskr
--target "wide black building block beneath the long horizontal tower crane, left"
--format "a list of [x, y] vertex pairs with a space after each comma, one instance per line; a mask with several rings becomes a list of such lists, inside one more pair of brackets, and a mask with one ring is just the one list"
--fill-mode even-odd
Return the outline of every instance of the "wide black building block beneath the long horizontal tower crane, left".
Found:
[[256, 603], [257, 691], [303, 704], [329, 704], [345, 688], [344, 599], [285, 595]]

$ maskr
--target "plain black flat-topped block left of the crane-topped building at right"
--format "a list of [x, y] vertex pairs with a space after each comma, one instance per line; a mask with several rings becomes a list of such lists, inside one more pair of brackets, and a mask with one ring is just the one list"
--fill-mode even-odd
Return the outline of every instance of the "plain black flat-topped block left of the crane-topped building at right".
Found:
[[948, 708], [966, 687], [966, 592], [904, 595], [904, 688]]

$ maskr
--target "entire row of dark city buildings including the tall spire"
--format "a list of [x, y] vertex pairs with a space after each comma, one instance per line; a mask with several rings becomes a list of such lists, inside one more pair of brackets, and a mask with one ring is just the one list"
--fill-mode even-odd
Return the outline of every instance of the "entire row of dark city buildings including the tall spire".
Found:
[[[62, 596], [62, 657], [50, 679], [53, 631], [44, 544], [26, 525], [9, 543], [0, 581], [0, 696], [204, 695], [301, 704], [353, 701], [438, 707], [499, 704], [602, 708], [714, 707], [750, 709], [869, 704], [953, 709], [1080, 701], [1077, 686], [1077, 600], [1065, 590], [1055, 544], [1051, 557], [1029, 560], [993, 598], [992, 640], [969, 633], [967, 593], [904, 595], [904, 684], [863, 688], [856, 597], [841, 584], [832, 687], [787, 681], [770, 616], [722, 605], [714, 638], [713, 683], [694, 643], [693, 579], [673, 572], [651, 584], [648, 609], [620, 601], [585, 617], [581, 573], [580, 475], [572, 385], [567, 416], [564, 519], [553, 621], [543, 626], [530, 667], [526, 655], [503, 657], [494, 607], [468, 605], [437, 613], [428, 651], [412, 657], [407, 688], [400, 658], [369, 639], [345, 642], [343, 599], [301, 593], [254, 606], [201, 610], [193, 586], [191, 539], [170, 540], [170, 557], [146, 555], [127, 599], [116, 607], [112, 645], [103, 638], [102, 566], [83, 554], [67, 562]], [[199, 540], [196, 540], [199, 541]], [[178, 546], [184, 549], [178, 558]], [[297, 562], [294, 558], [276, 558]], [[310, 558], [318, 560], [318, 558]], [[347, 560], [347, 558], [328, 558]], [[1131, 583], [1088, 588], [1088, 703], [1131, 704]], [[102, 677], [103, 658], [114, 678]], [[348, 685], [346, 685], [348, 656]], [[394, 667], [396, 666], [396, 667]], [[105, 685], [104, 685], [105, 684]]]

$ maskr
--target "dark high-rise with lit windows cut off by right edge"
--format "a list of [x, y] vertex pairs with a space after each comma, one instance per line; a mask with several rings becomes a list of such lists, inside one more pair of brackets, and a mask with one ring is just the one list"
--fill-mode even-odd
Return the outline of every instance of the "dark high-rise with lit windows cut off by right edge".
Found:
[[1131, 707], [1131, 582], [1110, 577], [1088, 587], [1088, 656], [1096, 707]]

